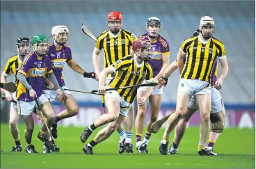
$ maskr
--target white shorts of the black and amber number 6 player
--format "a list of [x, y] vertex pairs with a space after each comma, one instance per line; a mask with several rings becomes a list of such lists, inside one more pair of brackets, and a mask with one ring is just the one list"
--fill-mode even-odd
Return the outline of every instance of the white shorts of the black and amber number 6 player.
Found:
[[211, 85], [207, 81], [199, 79], [179, 79], [178, 92], [186, 92], [188, 95], [211, 94]]

